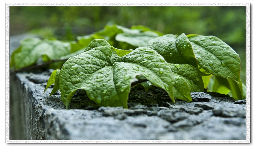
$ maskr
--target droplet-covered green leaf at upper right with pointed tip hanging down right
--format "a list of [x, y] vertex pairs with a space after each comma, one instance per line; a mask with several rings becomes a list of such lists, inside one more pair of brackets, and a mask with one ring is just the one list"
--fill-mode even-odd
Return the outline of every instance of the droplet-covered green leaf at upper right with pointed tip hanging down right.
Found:
[[189, 35], [198, 65], [215, 76], [240, 82], [241, 61], [238, 54], [214, 36]]

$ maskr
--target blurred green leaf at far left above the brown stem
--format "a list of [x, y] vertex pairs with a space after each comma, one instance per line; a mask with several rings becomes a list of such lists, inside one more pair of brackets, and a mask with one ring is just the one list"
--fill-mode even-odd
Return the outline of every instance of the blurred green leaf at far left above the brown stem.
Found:
[[42, 56], [48, 57], [48, 60], [59, 59], [61, 56], [70, 53], [70, 43], [60, 41], [50, 41], [38, 38], [27, 38], [20, 42], [19, 52], [15, 52], [13, 56], [16, 69], [35, 64], [38, 58]]

